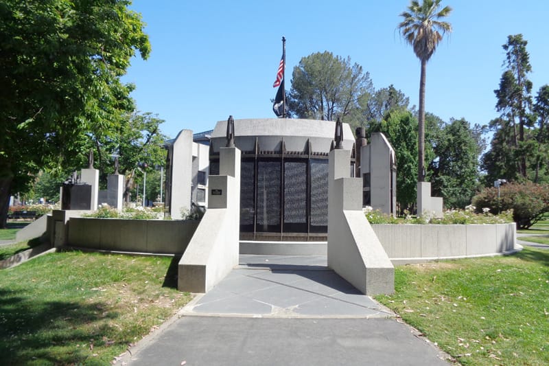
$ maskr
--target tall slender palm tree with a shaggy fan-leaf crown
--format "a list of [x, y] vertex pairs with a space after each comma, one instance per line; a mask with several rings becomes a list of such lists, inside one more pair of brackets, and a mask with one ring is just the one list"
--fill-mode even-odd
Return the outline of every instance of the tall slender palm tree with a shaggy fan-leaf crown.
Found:
[[399, 23], [401, 36], [414, 48], [414, 54], [421, 60], [421, 78], [419, 80], [419, 117], [417, 144], [417, 181], [425, 179], [425, 70], [427, 61], [434, 54], [436, 46], [445, 32], [452, 32], [452, 25], [439, 19], [448, 16], [452, 8], [445, 6], [439, 10], [441, 0], [412, 1], [408, 11], [400, 16], [404, 21]]

